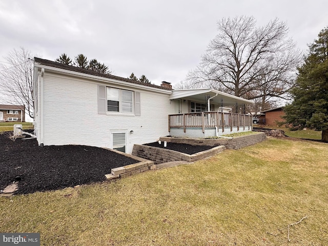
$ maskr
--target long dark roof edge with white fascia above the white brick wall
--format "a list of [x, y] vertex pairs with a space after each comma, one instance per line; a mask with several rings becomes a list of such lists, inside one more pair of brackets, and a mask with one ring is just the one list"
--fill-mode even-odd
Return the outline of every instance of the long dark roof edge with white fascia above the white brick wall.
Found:
[[[51, 70], [51, 71], [54, 71], [54, 72], [70, 74], [70, 75], [73, 75], [73, 76], [91, 78], [91, 79], [94, 79], [94, 80], [101, 80], [103, 83], [111, 83], [111, 84], [116, 84], [116, 85], [125, 85], [125, 86], [128, 86], [128, 87], [140, 88], [142, 90], [147, 90], [147, 91], [152, 91], [152, 92], [157, 91], [157, 92], [160, 92], [160, 93], [163, 93], [163, 94], [172, 94], [171, 90], [165, 89], [165, 88], [157, 86], [157, 85], [152, 85], [152, 84], [150, 84], [150, 85], [140, 85], [138, 83], [133, 83], [133, 80], [131, 80], [131, 79], [124, 78], [124, 77], [119, 77], [119, 76], [116, 76], [116, 75], [110, 75], [112, 78], [109, 78], [109, 77], [106, 77], [106, 76], [100, 76], [101, 75], [100, 73], [98, 73], [99, 75], [84, 73], [83, 71], [76, 71], [76, 70], [81, 70], [80, 68], [74, 69], [75, 67], [65, 65], [65, 64], [59, 64], [59, 65], [60, 66], [64, 65], [63, 67], [67, 66], [67, 69], [58, 68], [58, 67], [54, 67], [54, 66], [51, 66], [51, 65], [44, 65], [44, 64], [39, 63], [38, 61], [35, 61], [35, 58], [37, 60], [44, 60], [44, 59], [34, 57], [34, 67], [36, 67], [36, 68], [40, 68], [40, 69], [43, 68], [43, 69]], [[45, 61], [47, 63], [56, 64], [55, 61], [51, 61], [51, 60], [45, 60]], [[70, 69], [68, 69], [68, 68], [70, 68]], [[85, 69], [85, 70], [87, 70], [87, 69]], [[94, 71], [92, 71], [92, 72], [94, 72]], [[131, 80], [131, 81], [126, 81], [126, 80]]]

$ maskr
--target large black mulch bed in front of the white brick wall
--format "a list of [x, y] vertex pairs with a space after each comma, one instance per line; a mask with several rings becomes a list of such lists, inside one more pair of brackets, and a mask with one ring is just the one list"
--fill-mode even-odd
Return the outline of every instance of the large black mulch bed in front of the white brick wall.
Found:
[[36, 139], [12, 141], [0, 134], [0, 190], [18, 183], [16, 194], [74, 187], [105, 180], [112, 168], [138, 161], [90, 146], [39, 147]]

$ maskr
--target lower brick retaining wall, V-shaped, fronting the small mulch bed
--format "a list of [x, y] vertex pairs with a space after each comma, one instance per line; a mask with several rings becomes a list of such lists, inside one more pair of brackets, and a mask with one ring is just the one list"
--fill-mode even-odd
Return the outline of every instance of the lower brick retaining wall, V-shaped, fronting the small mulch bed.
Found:
[[132, 155], [152, 160], [154, 161], [155, 165], [157, 165], [163, 162], [179, 161], [179, 160], [193, 162], [212, 155], [216, 155], [222, 152], [224, 149], [225, 149], [224, 146], [217, 146], [217, 147], [213, 147], [210, 150], [205, 150], [193, 155], [189, 155], [169, 149], [162, 149], [162, 148], [145, 146], [145, 145], [134, 145], [132, 150]]

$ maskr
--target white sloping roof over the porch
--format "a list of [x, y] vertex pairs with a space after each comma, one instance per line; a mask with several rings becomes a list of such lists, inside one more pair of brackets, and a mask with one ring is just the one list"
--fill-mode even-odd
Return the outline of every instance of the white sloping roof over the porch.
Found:
[[221, 99], [222, 99], [223, 106], [234, 106], [236, 105], [236, 103], [238, 105], [253, 104], [253, 101], [251, 100], [243, 99], [238, 96], [233, 96], [228, 93], [224, 93], [209, 88], [173, 90], [172, 92], [173, 93], [172, 95], [170, 95], [170, 99], [186, 98], [189, 100], [203, 101], [204, 103], [207, 104], [207, 98], [215, 96], [211, 99], [211, 104], [221, 105]]

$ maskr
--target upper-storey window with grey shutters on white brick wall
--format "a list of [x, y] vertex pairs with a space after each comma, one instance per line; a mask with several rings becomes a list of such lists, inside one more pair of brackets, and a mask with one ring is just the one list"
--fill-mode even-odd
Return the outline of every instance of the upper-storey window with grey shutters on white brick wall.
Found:
[[140, 115], [140, 92], [98, 86], [98, 113]]

